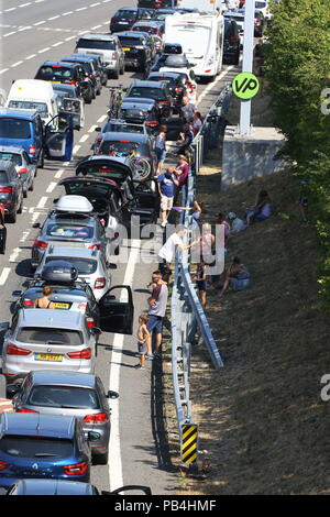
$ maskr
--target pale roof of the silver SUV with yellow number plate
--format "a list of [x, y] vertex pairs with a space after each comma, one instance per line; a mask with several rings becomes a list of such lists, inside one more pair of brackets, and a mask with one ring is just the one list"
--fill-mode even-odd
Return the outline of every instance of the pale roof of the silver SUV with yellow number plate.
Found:
[[42, 327], [80, 330], [85, 321], [82, 312], [64, 311], [58, 309], [20, 309], [20, 327]]

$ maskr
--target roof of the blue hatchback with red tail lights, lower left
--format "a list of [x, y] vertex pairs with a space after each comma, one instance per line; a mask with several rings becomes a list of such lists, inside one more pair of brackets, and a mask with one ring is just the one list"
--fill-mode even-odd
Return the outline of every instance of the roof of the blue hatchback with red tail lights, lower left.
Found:
[[3, 435], [66, 439], [74, 437], [76, 418], [73, 416], [33, 413], [3, 413], [1, 416], [0, 428]]

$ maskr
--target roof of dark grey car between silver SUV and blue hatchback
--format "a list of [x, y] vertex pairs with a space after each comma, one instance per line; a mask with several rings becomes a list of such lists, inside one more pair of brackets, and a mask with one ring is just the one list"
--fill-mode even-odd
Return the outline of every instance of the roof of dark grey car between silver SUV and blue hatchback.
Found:
[[31, 372], [32, 383], [43, 385], [66, 384], [72, 386], [86, 386], [94, 388], [96, 375], [88, 373], [70, 372], [67, 370], [33, 370]]

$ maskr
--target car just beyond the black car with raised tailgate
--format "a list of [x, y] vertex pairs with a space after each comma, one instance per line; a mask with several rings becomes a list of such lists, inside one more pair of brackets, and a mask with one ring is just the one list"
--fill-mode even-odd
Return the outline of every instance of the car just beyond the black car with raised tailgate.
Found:
[[156, 154], [154, 142], [148, 135], [139, 133], [103, 133], [96, 154], [111, 156], [112, 154], [119, 155], [121, 153], [123, 156], [127, 156], [132, 151], [134, 151], [138, 157], [141, 156], [148, 162], [150, 175], [153, 177], [156, 168]]

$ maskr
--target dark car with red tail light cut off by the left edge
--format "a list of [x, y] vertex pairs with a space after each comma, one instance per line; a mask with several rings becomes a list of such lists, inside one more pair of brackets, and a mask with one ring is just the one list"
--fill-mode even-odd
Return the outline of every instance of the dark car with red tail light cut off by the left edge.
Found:
[[23, 183], [12, 162], [0, 161], [0, 204], [9, 222], [15, 222], [23, 208]]

